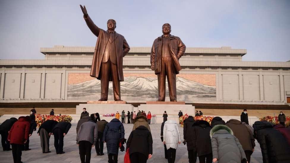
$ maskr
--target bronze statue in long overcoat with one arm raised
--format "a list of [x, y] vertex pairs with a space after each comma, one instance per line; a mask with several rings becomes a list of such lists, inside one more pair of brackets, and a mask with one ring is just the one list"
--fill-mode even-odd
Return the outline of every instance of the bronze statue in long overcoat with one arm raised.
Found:
[[115, 31], [115, 20], [108, 20], [108, 30], [105, 31], [94, 24], [86, 7], [80, 6], [86, 24], [93, 34], [98, 37], [90, 75], [101, 80], [101, 99], [99, 101], [108, 100], [109, 81], [113, 82], [114, 100], [122, 101], [120, 81], [124, 81], [123, 57], [127, 55], [130, 47], [124, 36]]

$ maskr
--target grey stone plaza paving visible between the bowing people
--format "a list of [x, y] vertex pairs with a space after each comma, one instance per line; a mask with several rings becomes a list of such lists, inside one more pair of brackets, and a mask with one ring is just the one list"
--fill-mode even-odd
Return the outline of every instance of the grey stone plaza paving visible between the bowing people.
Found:
[[[128, 139], [130, 132], [132, 131], [133, 124], [124, 124], [125, 128], [125, 138]], [[160, 140], [160, 127], [161, 124], [151, 124], [151, 132], [153, 137], [153, 155], [152, 158], [149, 159], [147, 162], [154, 162], [154, 163], [166, 163], [167, 160], [164, 159], [164, 147]], [[37, 129], [38, 130], [38, 129]], [[180, 127], [180, 135], [183, 138], [183, 128]], [[79, 163], [79, 150], [78, 146], [76, 145], [75, 141], [76, 137], [76, 124], [72, 125], [72, 128], [68, 132], [68, 134], [64, 137], [64, 154], [56, 154], [55, 148], [53, 146], [54, 138], [51, 136], [50, 139], [50, 150], [51, 153], [42, 153], [40, 147], [40, 137], [37, 136], [37, 133], [34, 132], [30, 137], [30, 151], [23, 151], [22, 152], [22, 161], [24, 163]], [[183, 139], [182, 139], [183, 140]], [[107, 156], [107, 149], [106, 145], [104, 144], [104, 153], [103, 156], [97, 156], [95, 148], [92, 148], [92, 156], [91, 162], [98, 162], [98, 163], [105, 163], [108, 162]], [[124, 152], [119, 151], [119, 163], [122, 163], [124, 160]], [[12, 151], [3, 151], [2, 146], [0, 148], [0, 162], [8, 163], [13, 162], [12, 158]], [[188, 162], [188, 154], [186, 145], [181, 143], [178, 146], [176, 151], [176, 163], [185, 163]], [[197, 161], [198, 162], [198, 161]], [[263, 162], [262, 161], [262, 154], [259, 143], [256, 141], [256, 148], [255, 152], [251, 157], [252, 163]]]

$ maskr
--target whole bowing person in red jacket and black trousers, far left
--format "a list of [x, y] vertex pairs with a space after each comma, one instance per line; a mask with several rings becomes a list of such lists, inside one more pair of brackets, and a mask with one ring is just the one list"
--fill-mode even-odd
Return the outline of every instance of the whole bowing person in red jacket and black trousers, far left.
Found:
[[19, 117], [9, 131], [8, 141], [12, 146], [14, 162], [21, 162], [22, 148], [28, 140], [30, 122], [25, 117]]

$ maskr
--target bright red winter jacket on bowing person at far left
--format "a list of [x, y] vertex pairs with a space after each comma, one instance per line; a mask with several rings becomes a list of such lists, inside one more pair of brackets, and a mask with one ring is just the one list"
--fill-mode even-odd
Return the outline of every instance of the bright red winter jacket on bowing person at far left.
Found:
[[18, 121], [11, 127], [8, 140], [10, 144], [24, 144], [29, 136], [30, 123], [25, 117], [19, 117]]

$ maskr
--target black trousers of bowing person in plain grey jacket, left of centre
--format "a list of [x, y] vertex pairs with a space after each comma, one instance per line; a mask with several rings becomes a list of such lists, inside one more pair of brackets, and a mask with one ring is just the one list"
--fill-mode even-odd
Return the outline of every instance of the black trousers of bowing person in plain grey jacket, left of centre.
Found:
[[90, 163], [92, 143], [84, 140], [78, 142], [78, 144], [79, 144], [78, 149], [80, 150], [81, 163]]

